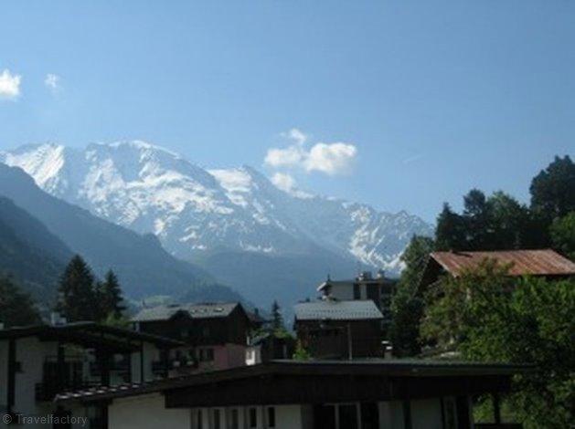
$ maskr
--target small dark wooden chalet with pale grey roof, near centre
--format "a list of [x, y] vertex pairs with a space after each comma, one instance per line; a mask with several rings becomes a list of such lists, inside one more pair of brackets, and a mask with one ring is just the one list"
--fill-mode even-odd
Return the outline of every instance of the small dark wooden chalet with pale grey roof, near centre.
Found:
[[325, 298], [294, 307], [297, 338], [316, 359], [383, 355], [381, 311], [371, 299]]

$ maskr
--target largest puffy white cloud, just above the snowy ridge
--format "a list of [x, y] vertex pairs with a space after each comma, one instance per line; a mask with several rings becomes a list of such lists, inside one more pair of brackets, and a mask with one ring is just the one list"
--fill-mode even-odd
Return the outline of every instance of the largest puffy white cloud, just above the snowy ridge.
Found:
[[282, 136], [293, 141], [286, 148], [268, 150], [264, 162], [273, 168], [301, 169], [307, 173], [320, 172], [329, 175], [349, 173], [357, 157], [357, 147], [346, 142], [317, 142], [309, 149], [305, 143], [308, 136], [292, 129]]

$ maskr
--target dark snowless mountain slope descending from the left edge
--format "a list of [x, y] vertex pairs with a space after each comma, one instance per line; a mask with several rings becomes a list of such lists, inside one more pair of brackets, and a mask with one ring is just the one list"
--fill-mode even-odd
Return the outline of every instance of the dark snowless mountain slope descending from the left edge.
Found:
[[21, 169], [4, 164], [0, 234], [5, 237], [0, 270], [19, 277], [33, 293], [41, 285], [46, 300], [54, 297], [73, 254], [83, 256], [99, 277], [113, 269], [129, 298], [240, 299], [203, 268], [171, 256], [154, 235], [137, 234], [66, 203], [42, 191]]

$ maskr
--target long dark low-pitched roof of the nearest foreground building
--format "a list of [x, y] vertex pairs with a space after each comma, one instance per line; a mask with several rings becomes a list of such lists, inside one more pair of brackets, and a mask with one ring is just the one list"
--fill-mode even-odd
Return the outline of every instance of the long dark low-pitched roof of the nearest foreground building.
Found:
[[[474, 377], [476, 380], [482, 377], [491, 377], [491, 382], [503, 380], [506, 376], [511, 376], [518, 372], [528, 371], [530, 367], [519, 364], [504, 363], [473, 363], [456, 361], [422, 361], [422, 360], [369, 360], [369, 361], [270, 361], [254, 366], [244, 366], [223, 371], [208, 371], [184, 377], [171, 378], [156, 382], [124, 384], [115, 387], [96, 387], [77, 392], [63, 392], [57, 395], [56, 401], [59, 403], [76, 402], [82, 403], [109, 401], [115, 398], [137, 396], [153, 392], [175, 392], [176, 396], [181, 396], [180, 392], [185, 392], [187, 388], [192, 388], [200, 395], [208, 395], [209, 392], [216, 392], [214, 386], [217, 383], [229, 383], [241, 381], [241, 394], [248, 394], [245, 391], [245, 382], [250, 380], [256, 384], [261, 384], [266, 380], [288, 380], [297, 382], [311, 380], [314, 377], [322, 377], [322, 380], [334, 381], [338, 377], [344, 377], [347, 382], [358, 377], [360, 384], [367, 380], [394, 380], [394, 379], [419, 379], [431, 378], [431, 383], [437, 377], [446, 377], [451, 380], [458, 377]], [[441, 384], [441, 383], [440, 383]], [[466, 383], [463, 382], [463, 387]], [[210, 386], [210, 389], [197, 389], [199, 386]], [[227, 384], [229, 385], [229, 384]], [[268, 387], [263, 386], [265, 389]], [[362, 386], [358, 386], [361, 390]], [[281, 387], [278, 386], [278, 390]], [[290, 389], [286, 389], [290, 391]], [[377, 389], [376, 389], [377, 390]], [[268, 392], [271, 395], [273, 389]], [[293, 390], [291, 390], [293, 392]], [[302, 392], [293, 392], [294, 395]], [[323, 392], [322, 394], [326, 394]], [[214, 401], [225, 402], [226, 399], [218, 394]], [[224, 395], [225, 396], [225, 395]], [[260, 400], [272, 399], [262, 395]], [[250, 401], [250, 399], [249, 399]]]

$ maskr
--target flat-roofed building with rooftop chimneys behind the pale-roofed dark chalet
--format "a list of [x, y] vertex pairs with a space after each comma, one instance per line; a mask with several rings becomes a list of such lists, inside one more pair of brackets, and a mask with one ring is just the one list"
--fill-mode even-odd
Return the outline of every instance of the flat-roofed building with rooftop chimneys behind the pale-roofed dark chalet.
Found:
[[317, 287], [317, 291], [324, 297], [329, 296], [342, 301], [371, 299], [381, 311], [384, 321], [389, 322], [391, 297], [396, 283], [397, 280], [385, 277], [381, 270], [375, 277], [370, 271], [364, 271], [349, 280], [332, 280], [327, 277], [327, 280]]

